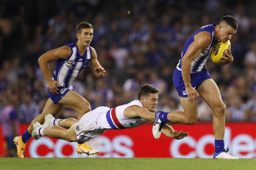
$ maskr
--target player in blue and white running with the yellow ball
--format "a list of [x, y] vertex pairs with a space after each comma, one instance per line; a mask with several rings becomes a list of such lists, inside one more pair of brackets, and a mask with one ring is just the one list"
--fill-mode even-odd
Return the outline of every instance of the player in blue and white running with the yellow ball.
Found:
[[[185, 43], [181, 58], [173, 74], [174, 87], [180, 96], [184, 111], [171, 114], [158, 112], [153, 126], [155, 138], [159, 137], [160, 122], [171, 124], [193, 125], [198, 118], [196, 98], [199, 96], [213, 110], [213, 132], [215, 135], [215, 159], [238, 159], [224, 149], [225, 105], [220, 96], [217, 84], [206, 70], [206, 61], [210, 56], [213, 45], [217, 42], [227, 42], [235, 35], [238, 22], [232, 16], [224, 16], [217, 24], [203, 26], [194, 32]], [[218, 62], [220, 65], [233, 62], [230, 49], [226, 56]], [[158, 122], [158, 123], [157, 123]], [[157, 133], [158, 131], [158, 133]]]

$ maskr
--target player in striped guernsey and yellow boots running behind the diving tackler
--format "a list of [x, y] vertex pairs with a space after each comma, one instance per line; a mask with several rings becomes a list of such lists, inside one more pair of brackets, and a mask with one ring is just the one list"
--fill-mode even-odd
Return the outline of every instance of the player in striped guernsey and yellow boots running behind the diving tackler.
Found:
[[[17, 147], [18, 157], [23, 158], [26, 142], [31, 138], [33, 123], [36, 121], [43, 124], [46, 114], [57, 115], [62, 108], [67, 107], [79, 112], [78, 120], [82, 116], [91, 111], [89, 102], [81, 95], [72, 91], [74, 83], [82, 69], [90, 62], [92, 72], [97, 77], [102, 77], [105, 70], [97, 60], [95, 49], [90, 46], [93, 38], [92, 25], [82, 22], [77, 26], [76, 43], [50, 50], [39, 57], [39, 66], [48, 83], [49, 99], [43, 109], [29, 125], [28, 129], [21, 135], [14, 138]], [[57, 61], [53, 77], [50, 74], [48, 63]], [[58, 122], [56, 122], [58, 123]], [[57, 125], [61, 125], [59, 122]], [[64, 125], [63, 125], [64, 126]], [[88, 155], [99, 153], [99, 150], [93, 149], [85, 142], [78, 142], [78, 153], [86, 153]]]

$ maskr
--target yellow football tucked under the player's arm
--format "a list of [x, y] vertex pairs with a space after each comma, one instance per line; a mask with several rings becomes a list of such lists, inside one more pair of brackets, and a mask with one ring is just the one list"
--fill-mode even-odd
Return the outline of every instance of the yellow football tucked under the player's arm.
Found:
[[220, 62], [221, 58], [225, 56], [224, 52], [228, 53], [228, 49], [231, 49], [230, 41], [226, 42], [217, 42], [213, 45], [213, 49], [211, 51], [211, 59], [213, 62]]

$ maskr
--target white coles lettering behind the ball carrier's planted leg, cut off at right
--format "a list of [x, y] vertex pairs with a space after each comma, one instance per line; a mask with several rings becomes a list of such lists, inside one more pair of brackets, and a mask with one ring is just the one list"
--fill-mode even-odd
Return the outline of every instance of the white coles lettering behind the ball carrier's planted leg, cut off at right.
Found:
[[[231, 128], [225, 128], [225, 147], [230, 147], [228, 153], [238, 158], [255, 158], [256, 140], [248, 134], [236, 135], [231, 140]], [[208, 145], [214, 147], [214, 135], [203, 135], [196, 141], [192, 136], [181, 140], [173, 140], [170, 146], [171, 156], [174, 158], [212, 158], [213, 153], [207, 152]], [[186, 147], [188, 151], [181, 153], [181, 147]]]

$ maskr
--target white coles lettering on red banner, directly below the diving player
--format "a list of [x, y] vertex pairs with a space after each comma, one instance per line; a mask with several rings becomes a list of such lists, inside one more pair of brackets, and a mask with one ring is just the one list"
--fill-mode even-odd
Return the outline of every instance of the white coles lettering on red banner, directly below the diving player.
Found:
[[[100, 153], [93, 157], [135, 157], [134, 145], [132, 139], [126, 135], [118, 135], [112, 141], [106, 136], [98, 136], [92, 142], [88, 142], [89, 146], [99, 149]], [[43, 137], [40, 140], [33, 140], [29, 145], [29, 154], [31, 157], [92, 157], [86, 154], [78, 155], [76, 152], [77, 142], [67, 142], [58, 139], [53, 142], [51, 138]], [[36, 152], [35, 152], [36, 151]]]

